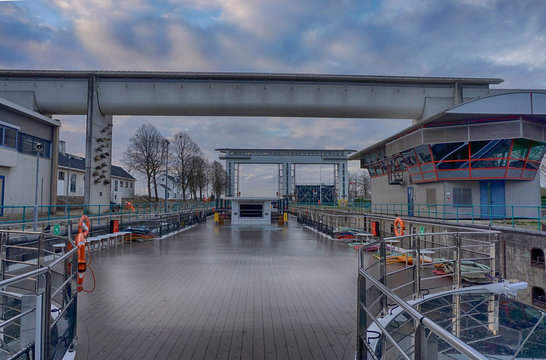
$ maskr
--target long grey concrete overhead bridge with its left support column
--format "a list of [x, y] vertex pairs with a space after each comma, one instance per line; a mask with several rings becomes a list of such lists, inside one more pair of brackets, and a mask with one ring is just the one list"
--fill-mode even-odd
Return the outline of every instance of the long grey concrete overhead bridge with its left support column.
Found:
[[[418, 121], [488, 96], [489, 86], [501, 82], [496, 78], [0, 70], [0, 97], [45, 115], [87, 115], [85, 202], [108, 204], [110, 186], [95, 181], [92, 169], [111, 162], [111, 151], [98, 160], [95, 152], [105, 143], [111, 149], [111, 132], [105, 130], [112, 126], [114, 115]], [[52, 194], [52, 202], [55, 198]]]

